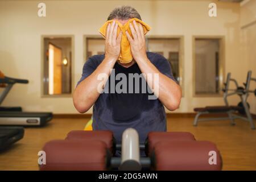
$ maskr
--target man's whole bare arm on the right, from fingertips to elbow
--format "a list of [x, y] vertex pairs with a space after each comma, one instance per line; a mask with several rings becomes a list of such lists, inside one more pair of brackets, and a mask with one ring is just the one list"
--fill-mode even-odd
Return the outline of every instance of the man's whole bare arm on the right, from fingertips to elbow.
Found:
[[[180, 86], [171, 78], [167, 77], [151, 63], [147, 58], [146, 54], [146, 43], [145, 36], [142, 25], [133, 22], [134, 26], [130, 23], [131, 33], [133, 38], [126, 31], [127, 39], [131, 45], [131, 53], [134, 59], [137, 61], [141, 72], [146, 74], [157, 73], [159, 75], [159, 84], [154, 85], [153, 77], [146, 77], [151, 90], [159, 90], [158, 98], [168, 110], [175, 110], [179, 107], [181, 101], [181, 88]], [[154, 88], [154, 89], [153, 89]]]

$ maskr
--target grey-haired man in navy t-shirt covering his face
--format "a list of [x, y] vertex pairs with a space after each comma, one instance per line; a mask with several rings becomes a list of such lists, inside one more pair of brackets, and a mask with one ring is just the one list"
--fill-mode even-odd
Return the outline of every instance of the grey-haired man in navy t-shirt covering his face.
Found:
[[[89, 57], [73, 94], [73, 103], [80, 113], [85, 113], [93, 105], [93, 130], [113, 131], [118, 143], [121, 143], [123, 131], [129, 127], [138, 131], [141, 143], [149, 131], [166, 131], [164, 106], [173, 111], [179, 107], [181, 100], [181, 89], [172, 76], [170, 63], [157, 53], [146, 52], [141, 24], [130, 23], [132, 36], [126, 31], [133, 61], [123, 64], [117, 60], [121, 51], [122, 32], [117, 36], [116, 21], [125, 24], [131, 18], [141, 20], [138, 12], [130, 6], [118, 7], [110, 13], [108, 20], [114, 21], [108, 24], [106, 30], [105, 55]], [[123, 73], [127, 77], [129, 73], [143, 73], [146, 75], [144, 80], [147, 84], [151, 83], [148, 84], [151, 91], [158, 90], [157, 98], [149, 99], [150, 92], [99, 92], [98, 85], [102, 84], [102, 80], [98, 79], [98, 76], [102, 73], [108, 75], [109, 79], [105, 83], [109, 83], [113, 71], [115, 75]], [[157, 75], [158, 82], [155, 82], [153, 77], [147, 77], [150, 74]], [[115, 85], [117, 84], [118, 80], [115, 80]], [[142, 81], [139, 90], [143, 90]]]

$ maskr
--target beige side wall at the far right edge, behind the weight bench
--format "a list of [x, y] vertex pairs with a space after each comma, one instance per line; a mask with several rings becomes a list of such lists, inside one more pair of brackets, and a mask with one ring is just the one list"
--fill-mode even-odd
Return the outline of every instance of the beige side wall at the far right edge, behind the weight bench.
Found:
[[[251, 70], [256, 78], [256, 1], [251, 0], [241, 6], [241, 61], [246, 63], [247, 70]], [[251, 81], [251, 90], [256, 89], [256, 83]], [[250, 94], [248, 100], [250, 111], [256, 114], [256, 97]]]

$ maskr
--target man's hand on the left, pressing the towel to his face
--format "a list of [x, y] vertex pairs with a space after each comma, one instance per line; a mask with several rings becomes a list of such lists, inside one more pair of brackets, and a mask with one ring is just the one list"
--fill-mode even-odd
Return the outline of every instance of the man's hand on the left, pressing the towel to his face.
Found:
[[121, 51], [122, 32], [117, 37], [118, 24], [115, 20], [108, 24], [105, 42], [105, 57], [110, 60], [117, 60]]

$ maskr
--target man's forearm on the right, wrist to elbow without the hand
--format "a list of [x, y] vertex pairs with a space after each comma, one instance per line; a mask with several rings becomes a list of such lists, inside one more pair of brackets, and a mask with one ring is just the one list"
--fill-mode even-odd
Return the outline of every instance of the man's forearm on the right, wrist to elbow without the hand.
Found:
[[[175, 110], [180, 105], [181, 100], [181, 88], [174, 80], [163, 75], [159, 72], [154, 64], [151, 63], [147, 58], [138, 59], [137, 64], [141, 69], [141, 72], [146, 75], [146, 80], [151, 90], [158, 90], [158, 98], [167, 107], [168, 110]], [[148, 74], [158, 74], [159, 82], [154, 84], [154, 77], [147, 76]]]

